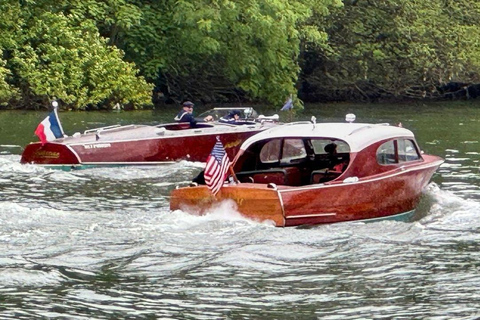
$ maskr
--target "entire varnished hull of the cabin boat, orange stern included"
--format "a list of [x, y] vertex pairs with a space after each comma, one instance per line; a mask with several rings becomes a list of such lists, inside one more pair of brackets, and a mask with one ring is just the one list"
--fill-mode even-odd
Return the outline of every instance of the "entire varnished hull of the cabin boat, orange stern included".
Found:
[[[171, 210], [204, 214], [224, 200], [243, 216], [275, 226], [316, 225], [355, 220], [395, 219], [415, 210], [422, 192], [443, 160], [428, 161], [358, 181], [332, 181], [300, 187], [259, 183], [224, 185], [216, 197], [206, 186], [172, 191]], [[348, 181], [348, 180], [347, 180]]]

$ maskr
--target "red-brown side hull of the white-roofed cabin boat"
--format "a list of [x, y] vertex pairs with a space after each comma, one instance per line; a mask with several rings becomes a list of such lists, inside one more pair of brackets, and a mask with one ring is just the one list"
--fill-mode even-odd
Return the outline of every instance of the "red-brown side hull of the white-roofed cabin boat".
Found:
[[285, 226], [386, 218], [417, 206], [437, 165], [414, 166], [357, 182], [280, 190]]

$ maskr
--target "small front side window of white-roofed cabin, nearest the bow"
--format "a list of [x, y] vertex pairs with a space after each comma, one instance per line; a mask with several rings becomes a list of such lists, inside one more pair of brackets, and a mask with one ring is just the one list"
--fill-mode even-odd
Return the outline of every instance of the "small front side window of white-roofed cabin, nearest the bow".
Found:
[[421, 159], [415, 143], [408, 139], [387, 141], [377, 149], [379, 164], [395, 164]]

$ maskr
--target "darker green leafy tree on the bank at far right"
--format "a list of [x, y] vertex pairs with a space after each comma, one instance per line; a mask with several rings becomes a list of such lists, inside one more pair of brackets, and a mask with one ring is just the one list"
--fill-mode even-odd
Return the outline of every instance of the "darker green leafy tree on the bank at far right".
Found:
[[345, 1], [328, 26], [333, 54], [313, 53], [305, 81], [357, 98], [438, 97], [450, 81], [477, 82], [479, 9], [473, 0]]

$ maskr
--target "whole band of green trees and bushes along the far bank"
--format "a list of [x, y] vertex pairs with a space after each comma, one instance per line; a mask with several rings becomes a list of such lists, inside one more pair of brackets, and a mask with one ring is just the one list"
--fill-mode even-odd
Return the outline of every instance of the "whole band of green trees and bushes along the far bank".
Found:
[[470, 100], [475, 0], [5, 0], [0, 109]]

